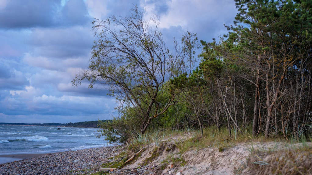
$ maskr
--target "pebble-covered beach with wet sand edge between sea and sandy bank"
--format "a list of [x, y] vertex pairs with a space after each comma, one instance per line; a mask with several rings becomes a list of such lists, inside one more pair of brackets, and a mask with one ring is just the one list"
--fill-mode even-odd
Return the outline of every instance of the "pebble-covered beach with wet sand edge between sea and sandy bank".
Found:
[[[49, 154], [7, 154], [0, 158], [16, 159], [0, 164], [0, 174], [90, 174], [122, 151], [107, 146]], [[22, 160], [21, 160], [22, 159]]]

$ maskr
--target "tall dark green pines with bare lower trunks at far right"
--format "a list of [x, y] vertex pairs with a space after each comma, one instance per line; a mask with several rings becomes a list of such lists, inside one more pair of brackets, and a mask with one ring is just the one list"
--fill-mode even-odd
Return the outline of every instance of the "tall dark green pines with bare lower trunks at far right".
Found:
[[[253, 134], [261, 129], [261, 116], [264, 116], [266, 137], [272, 129], [278, 132], [279, 123], [285, 137], [285, 123], [292, 116], [293, 135], [298, 138], [302, 129], [300, 121], [304, 127], [309, 118], [307, 106], [311, 106], [312, 3], [307, 0], [235, 2], [239, 13], [235, 26], [228, 27], [232, 31], [227, 40], [232, 48], [223, 53], [227, 59], [232, 58], [250, 70], [245, 78], [255, 85]], [[261, 111], [261, 106], [266, 112]]]

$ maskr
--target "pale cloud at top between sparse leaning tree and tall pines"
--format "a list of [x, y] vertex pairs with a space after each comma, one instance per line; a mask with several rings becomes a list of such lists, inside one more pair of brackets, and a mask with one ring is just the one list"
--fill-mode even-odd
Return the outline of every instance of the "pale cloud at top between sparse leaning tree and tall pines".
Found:
[[160, 10], [158, 3], [141, 1], [141, 7], [146, 10], [145, 19], [153, 14], [160, 14], [161, 28], [181, 26], [184, 31], [197, 32], [202, 40], [211, 40], [225, 34], [226, 29], [223, 25], [232, 24], [237, 12], [232, 0], [172, 0], [164, 3], [166, 5], [163, 5], [163, 10]]

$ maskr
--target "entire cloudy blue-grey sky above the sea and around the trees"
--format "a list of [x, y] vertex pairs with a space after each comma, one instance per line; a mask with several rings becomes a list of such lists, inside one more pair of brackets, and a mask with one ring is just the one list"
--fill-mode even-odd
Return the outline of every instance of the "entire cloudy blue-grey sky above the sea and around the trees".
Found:
[[[234, 0], [0, 0], [0, 122], [68, 123], [118, 115], [104, 87], [73, 87], [87, 69], [95, 38], [94, 18], [160, 17], [167, 43], [184, 32], [212, 41], [226, 34]], [[199, 50], [200, 52], [200, 50]]]

